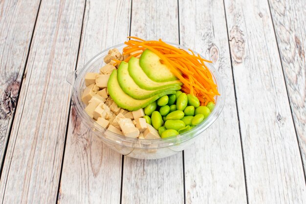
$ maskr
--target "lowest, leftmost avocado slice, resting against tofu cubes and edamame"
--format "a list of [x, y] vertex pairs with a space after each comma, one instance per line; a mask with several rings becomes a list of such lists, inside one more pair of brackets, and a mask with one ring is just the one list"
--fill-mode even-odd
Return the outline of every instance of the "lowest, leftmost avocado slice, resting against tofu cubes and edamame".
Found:
[[163, 95], [174, 94], [175, 91], [165, 91], [159, 94], [152, 96], [151, 98], [144, 99], [144, 100], [137, 100], [133, 99], [131, 96], [126, 94], [120, 87], [118, 80], [117, 80], [117, 70], [113, 70], [109, 77], [108, 82], [108, 91], [110, 97], [115, 101], [115, 103], [129, 111], [136, 111], [138, 109], [144, 108], [153, 101], [156, 101]]

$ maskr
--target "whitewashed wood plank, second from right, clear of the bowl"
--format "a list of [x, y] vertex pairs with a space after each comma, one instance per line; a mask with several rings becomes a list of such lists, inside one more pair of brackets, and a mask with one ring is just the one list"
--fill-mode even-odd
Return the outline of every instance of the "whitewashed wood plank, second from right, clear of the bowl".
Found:
[[268, 2], [225, 0], [225, 10], [248, 203], [306, 203], [303, 167]]

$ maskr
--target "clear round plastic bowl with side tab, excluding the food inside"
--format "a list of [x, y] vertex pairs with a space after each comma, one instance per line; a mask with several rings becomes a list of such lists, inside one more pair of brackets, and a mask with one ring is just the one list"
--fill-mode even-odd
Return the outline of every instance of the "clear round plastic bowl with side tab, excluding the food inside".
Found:
[[[169, 43], [175, 47], [179, 47], [188, 51], [187, 47]], [[160, 159], [172, 156], [181, 152], [190, 144], [192, 144], [198, 136], [203, 133], [219, 116], [224, 106], [224, 89], [221, 77], [216, 68], [210, 63], [206, 63], [211, 71], [214, 81], [218, 86], [219, 96], [216, 96], [215, 108], [210, 115], [199, 125], [184, 134], [169, 137], [166, 139], [138, 139], [126, 136], [120, 136], [101, 127], [85, 112], [85, 104], [81, 101], [82, 93], [85, 89], [85, 75], [87, 72], [98, 72], [105, 65], [103, 58], [108, 54], [109, 49], [117, 48], [122, 52], [125, 44], [115, 45], [100, 52], [93, 57], [82, 69], [78, 69], [67, 76], [67, 81], [73, 86], [72, 104], [76, 113], [76, 117], [86, 128], [88, 134], [94, 134], [116, 152], [136, 159]], [[197, 52], [195, 52], [197, 54]], [[201, 56], [202, 57], [202, 56]], [[204, 135], [202, 135], [204, 136]]]

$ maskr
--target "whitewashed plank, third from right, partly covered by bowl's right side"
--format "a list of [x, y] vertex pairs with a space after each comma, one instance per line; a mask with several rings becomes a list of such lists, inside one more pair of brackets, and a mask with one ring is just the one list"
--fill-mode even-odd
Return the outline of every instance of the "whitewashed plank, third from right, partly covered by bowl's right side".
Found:
[[184, 151], [186, 204], [246, 204], [233, 76], [222, 0], [179, 0], [180, 42], [212, 60], [225, 106], [217, 121]]

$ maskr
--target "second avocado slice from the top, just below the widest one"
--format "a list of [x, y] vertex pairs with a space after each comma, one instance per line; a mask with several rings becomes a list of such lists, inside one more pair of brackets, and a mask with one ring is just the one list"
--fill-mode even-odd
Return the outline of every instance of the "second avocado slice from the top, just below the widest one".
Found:
[[150, 79], [139, 66], [139, 59], [132, 57], [129, 60], [129, 73], [134, 82], [145, 90], [158, 90], [167, 87], [180, 86], [182, 83], [178, 80], [169, 82], [155, 82]]

